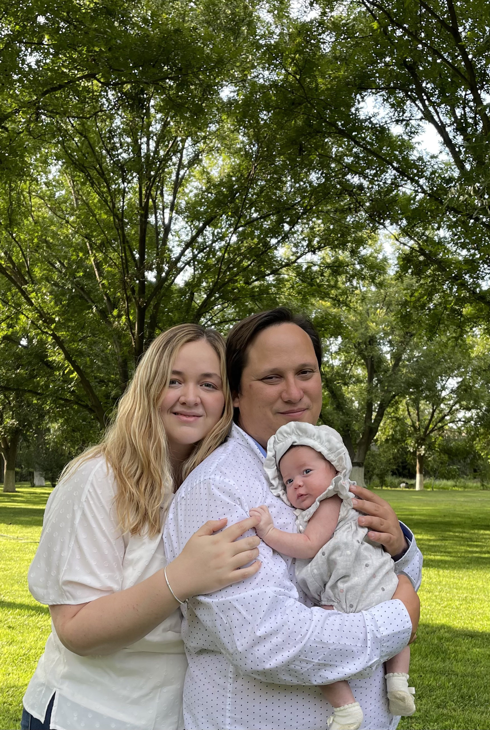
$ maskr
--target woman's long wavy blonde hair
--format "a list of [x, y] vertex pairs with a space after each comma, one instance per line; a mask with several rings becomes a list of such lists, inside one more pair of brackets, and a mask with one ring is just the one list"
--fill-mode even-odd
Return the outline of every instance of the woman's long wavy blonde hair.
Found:
[[183, 479], [217, 448], [229, 433], [233, 404], [226, 378], [225, 341], [219, 332], [196, 324], [180, 324], [153, 340], [139, 361], [104, 439], [71, 461], [62, 477], [84, 461], [104, 456], [112, 467], [117, 492], [115, 509], [123, 532], [131, 535], [161, 529], [161, 507], [167, 507], [175, 477], [169, 460], [169, 445], [159, 404], [168, 387], [178, 350], [188, 342], [205, 340], [220, 361], [225, 405], [223, 415], [210, 433], [196, 443], [182, 466]]

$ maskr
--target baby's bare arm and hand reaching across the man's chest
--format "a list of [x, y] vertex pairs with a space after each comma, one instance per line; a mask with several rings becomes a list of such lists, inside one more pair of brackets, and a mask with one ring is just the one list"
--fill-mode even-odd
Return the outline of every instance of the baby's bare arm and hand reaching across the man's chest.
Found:
[[250, 510], [250, 517], [260, 517], [260, 523], [256, 526], [257, 534], [269, 548], [277, 550], [290, 558], [313, 558], [318, 550], [334, 534], [339, 519], [340, 505], [342, 499], [337, 494], [323, 499], [318, 504], [318, 510], [310, 518], [305, 532], [284, 532], [278, 530], [272, 521], [270, 512], [261, 504], [260, 507], [253, 507]]

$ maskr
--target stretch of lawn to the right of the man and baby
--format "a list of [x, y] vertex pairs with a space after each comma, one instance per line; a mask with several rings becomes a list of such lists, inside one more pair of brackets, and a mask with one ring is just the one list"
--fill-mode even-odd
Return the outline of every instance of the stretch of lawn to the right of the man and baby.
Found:
[[490, 728], [490, 492], [378, 491], [424, 553], [421, 626], [403, 730]]

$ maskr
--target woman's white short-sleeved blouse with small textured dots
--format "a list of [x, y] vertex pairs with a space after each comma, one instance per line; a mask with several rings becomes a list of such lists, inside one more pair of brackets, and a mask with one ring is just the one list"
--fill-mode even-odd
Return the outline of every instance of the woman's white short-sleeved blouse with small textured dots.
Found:
[[[120, 534], [115, 483], [105, 459], [93, 458], [63, 480], [47, 501], [39, 548], [28, 572], [40, 603], [76, 605], [129, 588], [166, 565], [160, 534]], [[163, 524], [163, 520], [162, 520]], [[54, 626], [23, 699], [59, 730], [183, 730], [187, 661], [177, 610], [143, 639], [109, 656], [78, 656]]]

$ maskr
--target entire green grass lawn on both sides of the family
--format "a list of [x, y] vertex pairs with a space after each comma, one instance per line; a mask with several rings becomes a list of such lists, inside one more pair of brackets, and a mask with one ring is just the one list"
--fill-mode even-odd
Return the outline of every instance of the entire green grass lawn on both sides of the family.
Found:
[[[27, 589], [50, 488], [0, 493], [0, 729], [19, 726], [23, 691], [50, 621]], [[421, 626], [402, 730], [490, 730], [490, 491], [378, 491], [424, 553]]]

